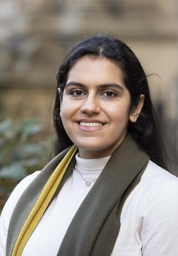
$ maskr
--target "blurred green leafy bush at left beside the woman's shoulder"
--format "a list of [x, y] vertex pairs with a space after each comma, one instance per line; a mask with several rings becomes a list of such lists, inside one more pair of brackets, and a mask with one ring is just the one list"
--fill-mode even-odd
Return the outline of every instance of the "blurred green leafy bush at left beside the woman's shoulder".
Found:
[[37, 139], [43, 128], [38, 119], [0, 122], [0, 209], [14, 186], [49, 160], [51, 138]]

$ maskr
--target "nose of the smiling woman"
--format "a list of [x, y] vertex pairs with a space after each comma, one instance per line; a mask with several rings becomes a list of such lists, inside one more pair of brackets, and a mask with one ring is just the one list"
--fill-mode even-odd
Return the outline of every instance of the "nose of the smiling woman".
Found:
[[81, 106], [81, 111], [87, 113], [88, 115], [99, 114], [100, 104], [95, 96], [88, 96], [83, 105]]

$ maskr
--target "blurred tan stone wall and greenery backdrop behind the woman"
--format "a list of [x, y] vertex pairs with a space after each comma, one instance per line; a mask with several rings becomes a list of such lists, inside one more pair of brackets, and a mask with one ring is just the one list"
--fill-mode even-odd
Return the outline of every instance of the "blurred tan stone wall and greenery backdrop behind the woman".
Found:
[[0, 1], [0, 208], [14, 186], [50, 159], [56, 69], [98, 32], [125, 41], [149, 77], [152, 100], [178, 175], [176, 0]]

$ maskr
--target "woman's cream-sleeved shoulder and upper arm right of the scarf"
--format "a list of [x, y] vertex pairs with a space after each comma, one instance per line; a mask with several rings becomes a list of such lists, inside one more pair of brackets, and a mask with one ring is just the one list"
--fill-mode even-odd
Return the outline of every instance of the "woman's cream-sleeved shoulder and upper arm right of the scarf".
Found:
[[138, 244], [140, 255], [176, 255], [177, 216], [178, 178], [149, 161], [123, 205], [120, 240]]

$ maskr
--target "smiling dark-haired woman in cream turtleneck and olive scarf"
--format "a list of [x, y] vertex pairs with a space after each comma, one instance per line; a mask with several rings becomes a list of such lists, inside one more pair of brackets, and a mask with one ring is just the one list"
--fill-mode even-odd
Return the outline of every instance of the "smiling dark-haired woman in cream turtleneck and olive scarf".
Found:
[[57, 81], [56, 157], [9, 197], [1, 255], [177, 255], [178, 180], [135, 54], [86, 38]]

